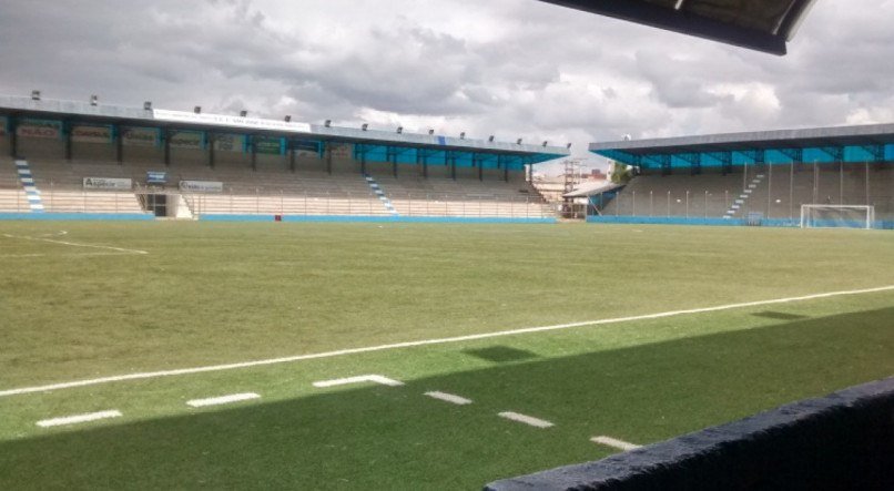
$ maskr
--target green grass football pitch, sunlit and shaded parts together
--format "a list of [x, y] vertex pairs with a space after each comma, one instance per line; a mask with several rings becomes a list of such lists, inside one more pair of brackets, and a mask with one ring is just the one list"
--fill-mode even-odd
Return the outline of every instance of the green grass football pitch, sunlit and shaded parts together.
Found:
[[[890, 232], [6, 222], [0, 391], [888, 285]], [[892, 318], [886, 290], [8, 395], [0, 489], [477, 489], [892, 376]], [[313, 386], [367, 374], [405, 385]]]

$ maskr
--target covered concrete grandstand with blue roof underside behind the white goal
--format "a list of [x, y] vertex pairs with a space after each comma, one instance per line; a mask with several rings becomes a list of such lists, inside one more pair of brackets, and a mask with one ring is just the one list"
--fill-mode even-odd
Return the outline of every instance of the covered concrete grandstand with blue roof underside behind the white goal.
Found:
[[593, 143], [630, 165], [593, 223], [894, 228], [894, 124]]

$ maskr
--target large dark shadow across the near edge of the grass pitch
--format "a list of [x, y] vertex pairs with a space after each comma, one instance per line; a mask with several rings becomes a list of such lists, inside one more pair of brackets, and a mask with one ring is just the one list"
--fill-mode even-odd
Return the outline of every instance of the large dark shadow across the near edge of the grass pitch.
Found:
[[891, 318], [894, 308], [814, 318], [0, 442], [0, 489], [480, 489], [605, 457], [596, 434], [648, 443], [890, 376]]

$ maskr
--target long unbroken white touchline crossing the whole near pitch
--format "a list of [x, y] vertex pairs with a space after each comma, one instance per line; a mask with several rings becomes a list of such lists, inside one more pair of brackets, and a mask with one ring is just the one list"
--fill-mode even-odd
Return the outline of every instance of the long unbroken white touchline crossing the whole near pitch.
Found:
[[146, 371], [140, 374], [128, 374], [128, 375], [118, 375], [112, 377], [101, 377], [94, 379], [85, 379], [85, 380], [74, 380], [68, 382], [59, 382], [59, 383], [50, 383], [45, 386], [34, 386], [34, 387], [22, 387], [18, 389], [9, 389], [0, 391], [0, 397], [9, 397], [9, 396], [20, 396], [23, 393], [33, 393], [33, 392], [45, 392], [50, 390], [61, 390], [61, 389], [72, 389], [75, 387], [84, 387], [84, 386], [95, 386], [100, 383], [111, 383], [111, 382], [121, 382], [128, 380], [143, 380], [143, 379], [153, 379], [153, 378], [161, 378], [161, 377], [176, 377], [181, 375], [192, 375], [192, 374], [205, 374], [210, 371], [223, 371], [223, 370], [237, 370], [242, 368], [253, 368], [253, 367], [262, 367], [267, 365], [278, 365], [278, 364], [289, 364], [294, 361], [304, 361], [304, 360], [314, 360], [319, 358], [333, 358], [339, 356], [347, 356], [347, 355], [358, 355], [364, 352], [373, 352], [373, 351], [385, 351], [390, 349], [402, 349], [402, 348], [414, 348], [418, 346], [431, 346], [431, 345], [446, 345], [451, 342], [465, 342], [465, 341], [474, 341], [478, 339], [489, 339], [489, 338], [497, 338], [502, 336], [516, 336], [522, 334], [532, 334], [532, 333], [546, 333], [550, 330], [561, 330], [561, 329], [571, 329], [576, 327], [586, 327], [586, 326], [606, 326], [610, 324], [623, 324], [623, 323], [633, 323], [639, 320], [652, 320], [652, 319], [662, 319], [667, 317], [678, 317], [678, 316], [685, 316], [692, 314], [704, 314], [704, 313], [713, 313], [713, 311], [722, 311], [722, 310], [733, 310], [740, 308], [749, 308], [749, 307], [763, 307], [766, 305], [779, 305], [779, 304], [791, 304], [795, 301], [806, 301], [806, 300], [816, 300], [822, 298], [832, 298], [832, 297], [841, 297], [841, 296], [850, 296], [850, 295], [864, 295], [864, 294], [875, 294], [882, 291], [894, 291], [894, 285], [890, 286], [881, 286], [876, 288], [864, 288], [864, 289], [855, 289], [855, 290], [845, 290], [845, 291], [830, 291], [825, 294], [815, 294], [815, 295], [804, 295], [801, 297], [788, 297], [788, 298], [775, 298], [772, 300], [758, 300], [758, 301], [746, 301], [742, 304], [727, 304], [727, 305], [719, 305], [715, 307], [703, 307], [703, 308], [690, 308], [685, 310], [670, 310], [663, 311], [658, 314], [646, 314], [640, 316], [630, 316], [630, 317], [614, 317], [609, 319], [599, 319], [599, 320], [586, 320], [582, 323], [570, 323], [570, 324], [557, 324], [555, 326], [540, 326], [540, 327], [528, 327], [524, 329], [511, 329], [511, 330], [500, 330], [496, 333], [485, 333], [485, 334], [477, 334], [477, 335], [469, 335], [469, 336], [457, 336], [451, 338], [436, 338], [436, 339], [424, 339], [419, 341], [405, 341], [405, 342], [395, 342], [392, 345], [378, 345], [378, 346], [368, 346], [364, 348], [351, 348], [351, 349], [341, 349], [337, 351], [325, 351], [325, 352], [316, 352], [309, 355], [297, 355], [284, 358], [270, 358], [264, 360], [254, 360], [254, 361], [242, 361], [236, 364], [226, 364], [226, 365], [210, 365], [205, 367], [192, 367], [192, 368], [180, 368], [175, 370], [161, 370], [161, 371]]

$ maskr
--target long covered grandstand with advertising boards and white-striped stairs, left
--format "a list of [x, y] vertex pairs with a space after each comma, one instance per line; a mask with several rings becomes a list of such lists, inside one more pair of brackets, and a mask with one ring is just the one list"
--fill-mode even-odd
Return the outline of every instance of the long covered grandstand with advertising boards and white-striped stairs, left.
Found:
[[0, 96], [0, 215], [555, 222], [529, 168], [567, 147]]

